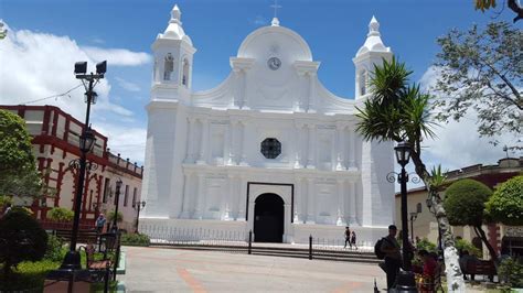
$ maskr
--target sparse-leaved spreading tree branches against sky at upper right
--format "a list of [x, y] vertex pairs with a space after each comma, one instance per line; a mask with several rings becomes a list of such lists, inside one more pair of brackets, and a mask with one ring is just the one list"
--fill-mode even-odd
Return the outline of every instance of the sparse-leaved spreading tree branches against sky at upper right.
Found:
[[441, 47], [435, 63], [440, 70], [434, 86], [439, 96], [434, 104], [437, 118], [459, 121], [473, 109], [481, 137], [511, 132], [520, 138], [523, 32], [506, 22], [492, 22], [484, 31], [476, 24], [466, 32], [451, 30], [437, 42]]

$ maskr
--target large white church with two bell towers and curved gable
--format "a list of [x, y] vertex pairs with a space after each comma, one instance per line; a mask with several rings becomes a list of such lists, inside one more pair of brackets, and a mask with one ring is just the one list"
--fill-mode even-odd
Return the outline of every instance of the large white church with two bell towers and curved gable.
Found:
[[247, 35], [221, 85], [193, 91], [196, 48], [174, 6], [152, 44], [140, 230], [253, 230], [256, 242], [288, 243], [341, 239], [345, 226], [366, 243], [386, 235], [393, 144], [355, 132], [369, 72], [393, 55], [378, 29], [372, 18], [352, 59], [354, 99], [323, 87], [320, 62], [277, 18]]

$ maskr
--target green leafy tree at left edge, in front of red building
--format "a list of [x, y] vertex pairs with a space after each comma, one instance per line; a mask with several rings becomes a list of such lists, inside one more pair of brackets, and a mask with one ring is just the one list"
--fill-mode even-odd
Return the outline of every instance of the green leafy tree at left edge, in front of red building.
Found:
[[46, 192], [25, 122], [0, 110], [0, 195], [38, 197]]

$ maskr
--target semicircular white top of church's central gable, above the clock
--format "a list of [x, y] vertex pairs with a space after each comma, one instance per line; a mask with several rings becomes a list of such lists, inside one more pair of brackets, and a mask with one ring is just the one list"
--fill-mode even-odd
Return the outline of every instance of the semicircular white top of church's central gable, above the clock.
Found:
[[263, 58], [267, 54], [286, 55], [289, 61], [312, 61], [307, 42], [295, 31], [279, 26], [276, 18], [273, 25], [260, 28], [245, 37], [237, 57]]

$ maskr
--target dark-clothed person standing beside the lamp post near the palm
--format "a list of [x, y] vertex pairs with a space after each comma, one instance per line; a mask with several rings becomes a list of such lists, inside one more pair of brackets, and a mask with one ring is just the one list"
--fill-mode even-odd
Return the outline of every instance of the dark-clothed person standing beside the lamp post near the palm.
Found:
[[385, 272], [387, 274], [387, 290], [394, 287], [397, 272], [402, 267], [402, 252], [396, 240], [397, 227], [388, 226], [388, 235], [383, 238], [381, 250], [385, 253]]

